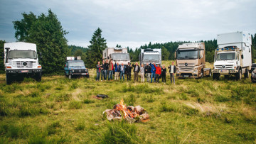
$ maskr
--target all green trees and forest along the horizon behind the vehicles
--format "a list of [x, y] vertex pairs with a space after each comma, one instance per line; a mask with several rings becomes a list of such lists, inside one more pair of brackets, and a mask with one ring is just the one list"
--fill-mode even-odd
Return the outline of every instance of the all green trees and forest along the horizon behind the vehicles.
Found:
[[[20, 21], [13, 21], [17, 41], [36, 43], [39, 63], [43, 67], [43, 74], [63, 74], [65, 58], [67, 56], [81, 56], [88, 68], [95, 67], [97, 61], [102, 61], [102, 50], [107, 48], [107, 40], [102, 38], [102, 30], [97, 28], [92, 34], [90, 45], [87, 48], [76, 45], [68, 45], [65, 35], [68, 31], [63, 30], [58, 17], [51, 11], [36, 16], [34, 13], [21, 13], [23, 18]], [[206, 61], [213, 62], [214, 50], [218, 47], [217, 40], [199, 40], [206, 45]], [[4, 52], [4, 43], [0, 40], [0, 51]], [[174, 60], [174, 52], [178, 45], [191, 43], [190, 41], [176, 41], [167, 43], [149, 43], [140, 48], [128, 48], [132, 61], [139, 61], [139, 53], [146, 48], [161, 48], [164, 60]], [[122, 45], [117, 43], [117, 48]], [[256, 34], [252, 35], [252, 60], [256, 59]], [[0, 59], [0, 73], [4, 73], [4, 60]]]

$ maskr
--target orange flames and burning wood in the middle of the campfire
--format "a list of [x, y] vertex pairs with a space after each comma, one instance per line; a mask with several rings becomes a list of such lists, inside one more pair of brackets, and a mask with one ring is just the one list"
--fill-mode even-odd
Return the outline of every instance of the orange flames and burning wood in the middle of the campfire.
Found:
[[124, 113], [124, 118], [126, 118], [127, 116], [130, 118], [134, 118], [139, 115], [136, 111], [131, 111], [130, 109], [127, 109], [127, 106], [124, 104], [124, 99], [121, 99], [120, 104], [117, 104], [114, 109], [117, 111], [122, 111], [122, 113]]

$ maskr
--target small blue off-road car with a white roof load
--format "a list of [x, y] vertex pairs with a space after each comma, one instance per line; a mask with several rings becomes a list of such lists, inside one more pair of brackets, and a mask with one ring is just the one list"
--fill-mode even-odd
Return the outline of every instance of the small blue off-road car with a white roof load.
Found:
[[81, 57], [67, 57], [64, 70], [65, 76], [69, 79], [72, 77], [90, 77]]

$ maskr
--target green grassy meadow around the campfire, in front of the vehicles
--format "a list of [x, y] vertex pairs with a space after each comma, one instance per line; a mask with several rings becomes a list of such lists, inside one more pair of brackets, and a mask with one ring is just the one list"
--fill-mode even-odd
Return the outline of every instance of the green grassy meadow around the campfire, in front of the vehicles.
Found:
[[[0, 74], [0, 143], [256, 143], [256, 84], [250, 79], [176, 79], [174, 85], [169, 76], [166, 84], [142, 84], [95, 82], [95, 70], [90, 75], [6, 85]], [[150, 121], [103, 118], [121, 99], [144, 107]]]

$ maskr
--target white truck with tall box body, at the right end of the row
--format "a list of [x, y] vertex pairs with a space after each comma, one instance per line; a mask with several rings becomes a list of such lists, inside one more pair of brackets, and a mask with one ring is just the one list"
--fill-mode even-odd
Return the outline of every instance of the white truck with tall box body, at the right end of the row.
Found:
[[252, 37], [250, 33], [238, 31], [217, 35], [218, 48], [215, 50], [213, 79], [220, 75], [228, 78], [235, 75], [240, 80], [242, 74], [249, 77], [252, 66]]

